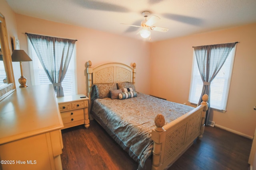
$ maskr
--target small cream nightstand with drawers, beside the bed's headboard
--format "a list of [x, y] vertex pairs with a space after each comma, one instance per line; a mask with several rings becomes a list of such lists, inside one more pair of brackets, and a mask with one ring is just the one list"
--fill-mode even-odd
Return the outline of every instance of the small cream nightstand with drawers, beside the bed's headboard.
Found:
[[74, 127], [84, 124], [86, 129], [90, 126], [88, 116], [88, 100], [89, 98], [80, 98], [84, 94], [58, 97], [58, 105], [60, 115], [64, 124], [64, 128]]

